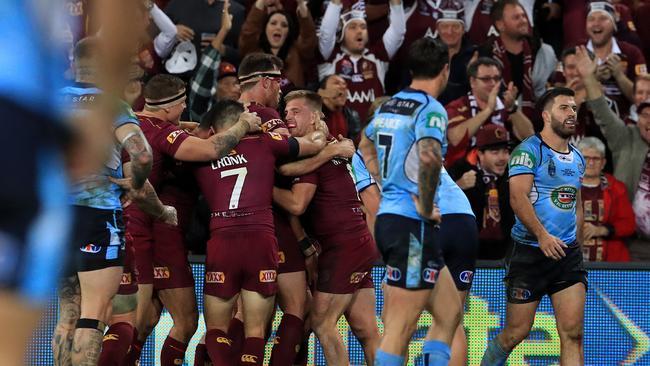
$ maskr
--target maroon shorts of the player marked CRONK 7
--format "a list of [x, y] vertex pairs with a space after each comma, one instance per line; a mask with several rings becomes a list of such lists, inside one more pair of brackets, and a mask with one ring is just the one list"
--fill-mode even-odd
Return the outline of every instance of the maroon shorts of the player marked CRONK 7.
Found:
[[215, 230], [205, 258], [205, 293], [229, 299], [241, 289], [278, 290], [278, 242], [268, 231]]

